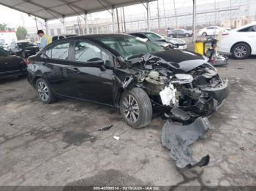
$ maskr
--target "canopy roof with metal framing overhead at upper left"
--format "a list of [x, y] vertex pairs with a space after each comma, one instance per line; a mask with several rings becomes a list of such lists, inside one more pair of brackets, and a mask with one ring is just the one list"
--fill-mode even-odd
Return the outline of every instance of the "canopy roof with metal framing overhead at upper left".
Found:
[[53, 20], [142, 2], [146, 0], [1, 0], [0, 4], [35, 17]]

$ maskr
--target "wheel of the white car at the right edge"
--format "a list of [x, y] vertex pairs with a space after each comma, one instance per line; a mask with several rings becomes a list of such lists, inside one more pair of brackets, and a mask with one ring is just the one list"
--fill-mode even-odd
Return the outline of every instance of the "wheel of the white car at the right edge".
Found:
[[246, 59], [251, 55], [251, 47], [244, 42], [239, 42], [238, 44], [233, 45], [231, 53], [233, 58], [236, 59]]

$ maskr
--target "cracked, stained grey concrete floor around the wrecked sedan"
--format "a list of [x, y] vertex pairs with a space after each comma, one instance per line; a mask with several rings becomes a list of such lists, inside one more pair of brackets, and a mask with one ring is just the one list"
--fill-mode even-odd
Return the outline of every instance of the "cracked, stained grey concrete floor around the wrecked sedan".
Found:
[[114, 109], [62, 99], [44, 105], [26, 79], [1, 79], [0, 185], [256, 185], [255, 64], [218, 68], [230, 96], [192, 145], [194, 157], [209, 154], [210, 163], [192, 170], [177, 169], [160, 144], [162, 117], [135, 130]]

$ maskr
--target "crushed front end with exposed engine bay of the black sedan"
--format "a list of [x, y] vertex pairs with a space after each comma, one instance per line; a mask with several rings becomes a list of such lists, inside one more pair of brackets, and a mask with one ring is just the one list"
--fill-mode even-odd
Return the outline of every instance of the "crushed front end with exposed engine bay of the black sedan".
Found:
[[[152, 104], [171, 109], [168, 115], [173, 120], [186, 124], [197, 117], [208, 116], [228, 95], [227, 80], [222, 80], [217, 70], [203, 60], [194, 60], [203, 64], [188, 72], [177, 63], [150, 54], [130, 62], [138, 66], [132, 67], [135, 85], [148, 93]], [[132, 80], [129, 78], [124, 84], [128, 86]]]

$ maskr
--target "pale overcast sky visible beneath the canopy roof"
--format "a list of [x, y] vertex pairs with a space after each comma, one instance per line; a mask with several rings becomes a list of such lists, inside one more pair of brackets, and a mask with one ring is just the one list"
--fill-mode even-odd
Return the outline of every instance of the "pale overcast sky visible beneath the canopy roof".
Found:
[[[217, 2], [223, 1], [223, 0], [215, 0]], [[246, 0], [244, 0], [246, 1]], [[206, 4], [206, 3], [213, 3], [214, 0], [197, 0], [197, 4]], [[175, 0], [176, 3], [176, 12], [178, 14], [179, 8], [183, 6], [192, 6], [192, 0]], [[159, 10], [163, 9], [165, 6], [165, 9], [173, 9], [173, 0], [159, 0]], [[157, 11], [157, 1], [151, 2], [150, 5], [151, 12]], [[124, 12], [126, 15], [132, 15], [132, 14], [140, 14], [141, 12], [146, 13], [146, 9], [143, 7], [142, 4], [138, 5], [132, 5], [129, 7], [125, 7]], [[108, 12], [99, 12], [90, 14], [90, 18], [106, 18], [110, 17], [110, 14]], [[67, 18], [67, 20], [72, 18]], [[56, 21], [53, 21], [56, 22]], [[35, 26], [35, 20], [33, 16], [28, 16], [22, 12], [16, 11], [14, 9], [10, 9], [8, 7], [4, 7], [0, 5], [0, 23], [6, 23], [7, 26], [11, 28], [17, 28], [18, 26], [25, 26], [31, 27]], [[42, 20], [39, 20], [38, 25], [39, 28], [40, 25], [43, 25], [44, 22]]]

